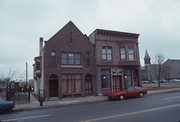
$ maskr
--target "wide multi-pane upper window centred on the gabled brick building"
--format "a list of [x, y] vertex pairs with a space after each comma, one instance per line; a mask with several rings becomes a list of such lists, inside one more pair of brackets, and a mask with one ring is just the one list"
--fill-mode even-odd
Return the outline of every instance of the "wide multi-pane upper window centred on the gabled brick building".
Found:
[[61, 53], [61, 64], [81, 64], [79, 53]]

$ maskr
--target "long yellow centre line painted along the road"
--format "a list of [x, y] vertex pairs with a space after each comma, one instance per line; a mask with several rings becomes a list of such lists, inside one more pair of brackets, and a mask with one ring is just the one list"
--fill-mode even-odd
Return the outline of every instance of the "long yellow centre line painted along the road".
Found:
[[90, 119], [90, 120], [82, 120], [80, 122], [95, 122], [95, 121], [100, 121], [100, 120], [114, 119], [114, 118], [130, 116], [130, 115], [140, 114], [140, 113], [144, 113], [144, 112], [157, 111], [157, 110], [161, 110], [161, 109], [168, 109], [168, 108], [173, 108], [173, 107], [180, 107], [180, 104], [162, 106], [162, 107], [159, 107], [159, 108], [146, 109], [146, 110], [142, 110], [142, 111], [136, 111], [136, 112], [130, 112], [130, 113], [124, 113], [124, 114], [117, 114], [117, 115], [112, 115], [112, 116], [105, 116], [105, 117], [95, 118], [95, 119]]

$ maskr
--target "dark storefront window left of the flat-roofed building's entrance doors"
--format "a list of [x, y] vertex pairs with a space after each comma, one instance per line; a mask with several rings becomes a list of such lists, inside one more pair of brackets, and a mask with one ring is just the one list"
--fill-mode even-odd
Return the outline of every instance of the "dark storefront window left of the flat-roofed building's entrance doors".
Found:
[[101, 87], [110, 87], [110, 70], [101, 70]]

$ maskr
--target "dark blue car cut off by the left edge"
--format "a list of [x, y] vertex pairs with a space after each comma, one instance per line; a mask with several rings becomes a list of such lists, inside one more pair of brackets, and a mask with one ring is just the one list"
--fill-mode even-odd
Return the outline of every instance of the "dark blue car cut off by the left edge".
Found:
[[15, 106], [14, 101], [4, 101], [0, 99], [0, 113], [11, 111]]

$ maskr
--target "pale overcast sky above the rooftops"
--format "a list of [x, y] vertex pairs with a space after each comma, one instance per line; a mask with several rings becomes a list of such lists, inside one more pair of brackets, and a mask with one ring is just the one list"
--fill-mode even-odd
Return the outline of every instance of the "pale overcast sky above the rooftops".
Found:
[[146, 49], [180, 59], [180, 0], [0, 0], [1, 71], [25, 72], [28, 62], [32, 78], [39, 37], [48, 40], [70, 20], [87, 35], [96, 28], [139, 33], [141, 65]]

